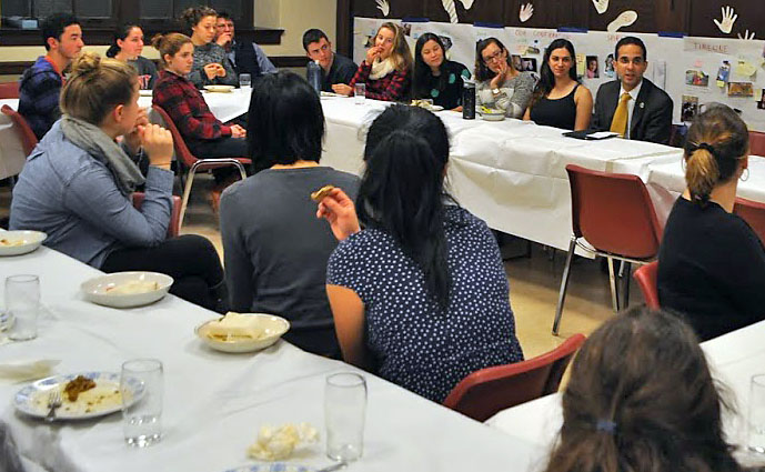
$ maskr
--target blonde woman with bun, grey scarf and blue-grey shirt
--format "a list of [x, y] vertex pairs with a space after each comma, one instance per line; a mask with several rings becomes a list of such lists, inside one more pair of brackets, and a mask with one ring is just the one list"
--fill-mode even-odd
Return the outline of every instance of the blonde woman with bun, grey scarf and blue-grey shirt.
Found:
[[[168, 130], [149, 124], [138, 97], [138, 73], [127, 62], [92, 52], [74, 61], [61, 91], [63, 117], [27, 158], [13, 189], [10, 225], [44, 231], [46, 245], [104, 272], [165, 273], [174, 279], [172, 293], [222, 309], [215, 248], [191, 234], [165, 240], [173, 142]], [[143, 153], [145, 178], [134, 162]], [[145, 185], [140, 210], [131, 202], [139, 185]]]

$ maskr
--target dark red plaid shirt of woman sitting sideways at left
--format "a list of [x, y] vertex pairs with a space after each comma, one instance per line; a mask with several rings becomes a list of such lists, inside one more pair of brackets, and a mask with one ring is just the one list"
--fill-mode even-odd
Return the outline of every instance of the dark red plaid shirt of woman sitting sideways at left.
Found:
[[168, 112], [187, 141], [231, 135], [231, 127], [221, 123], [212, 114], [202, 93], [184, 77], [160, 71], [154, 83], [152, 103]]

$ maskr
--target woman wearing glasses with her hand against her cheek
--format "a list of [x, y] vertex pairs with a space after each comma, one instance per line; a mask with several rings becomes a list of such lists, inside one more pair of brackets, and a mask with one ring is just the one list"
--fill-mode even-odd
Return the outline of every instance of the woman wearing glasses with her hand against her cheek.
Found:
[[475, 48], [477, 104], [503, 110], [509, 118], [521, 118], [534, 92], [535, 79], [519, 72], [510, 62], [507, 48], [496, 38], [479, 41]]

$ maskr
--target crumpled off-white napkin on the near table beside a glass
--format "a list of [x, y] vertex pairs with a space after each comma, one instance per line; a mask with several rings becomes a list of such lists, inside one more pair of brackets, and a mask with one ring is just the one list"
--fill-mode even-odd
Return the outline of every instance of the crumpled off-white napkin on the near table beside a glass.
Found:
[[261, 461], [288, 459], [296, 446], [319, 441], [319, 432], [309, 423], [286, 423], [279, 428], [261, 426], [258, 440], [246, 450], [248, 455]]

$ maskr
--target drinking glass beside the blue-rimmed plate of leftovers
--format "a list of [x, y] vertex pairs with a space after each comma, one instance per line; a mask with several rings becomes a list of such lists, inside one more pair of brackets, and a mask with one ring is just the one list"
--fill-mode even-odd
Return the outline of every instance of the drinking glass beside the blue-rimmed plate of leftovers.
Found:
[[[133, 394], [143, 385], [143, 395], [133, 404]], [[134, 448], [145, 448], [162, 439], [162, 362], [157, 359], [134, 359], [122, 364], [122, 430], [124, 441]]]

